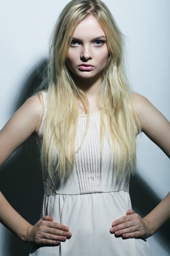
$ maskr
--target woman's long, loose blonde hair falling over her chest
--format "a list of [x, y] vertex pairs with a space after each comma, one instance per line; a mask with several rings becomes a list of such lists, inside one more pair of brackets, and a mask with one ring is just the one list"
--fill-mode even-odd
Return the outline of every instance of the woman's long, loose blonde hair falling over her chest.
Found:
[[[104, 30], [109, 50], [99, 94], [101, 147], [104, 132], [107, 135], [104, 121], [107, 118], [114, 153], [114, 168], [119, 177], [133, 173], [136, 162], [135, 112], [123, 66], [123, 35], [103, 2], [72, 0], [60, 14], [51, 37], [48, 108], [42, 139], [42, 164], [50, 175], [57, 174], [59, 178], [71, 173], [75, 163], [77, 99], [84, 105], [87, 114], [86, 131], [88, 129], [88, 100], [83, 90], [76, 86], [66, 65], [66, 58], [75, 27], [89, 15], [93, 15]], [[84, 137], [85, 135], [86, 132]], [[54, 161], [56, 158], [57, 161]]]

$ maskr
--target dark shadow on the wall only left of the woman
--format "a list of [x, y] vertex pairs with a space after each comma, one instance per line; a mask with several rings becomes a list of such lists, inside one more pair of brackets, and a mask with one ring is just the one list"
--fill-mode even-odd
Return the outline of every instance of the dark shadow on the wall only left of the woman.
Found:
[[[19, 101], [13, 106], [15, 112], [42, 82], [42, 73], [47, 60], [38, 63], [22, 85]], [[13, 208], [31, 224], [40, 219], [43, 183], [37, 141], [31, 136], [0, 169], [0, 191]], [[3, 256], [27, 256], [30, 245], [23, 243], [10, 231], [6, 231]]]

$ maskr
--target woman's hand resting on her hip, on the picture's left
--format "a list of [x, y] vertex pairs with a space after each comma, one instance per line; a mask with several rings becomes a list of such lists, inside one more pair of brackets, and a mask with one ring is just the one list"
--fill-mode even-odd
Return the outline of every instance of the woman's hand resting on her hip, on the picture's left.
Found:
[[33, 245], [59, 245], [71, 238], [71, 232], [68, 231], [68, 227], [53, 222], [50, 216], [45, 216], [34, 226], [27, 228], [26, 242]]

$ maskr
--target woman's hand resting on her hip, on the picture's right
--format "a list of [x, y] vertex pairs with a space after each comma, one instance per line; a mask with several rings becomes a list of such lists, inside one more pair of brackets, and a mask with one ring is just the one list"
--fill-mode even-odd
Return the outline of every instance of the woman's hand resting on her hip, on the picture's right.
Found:
[[142, 219], [139, 214], [132, 209], [123, 216], [112, 222], [110, 233], [123, 238], [148, 238], [150, 236], [150, 228], [147, 220]]

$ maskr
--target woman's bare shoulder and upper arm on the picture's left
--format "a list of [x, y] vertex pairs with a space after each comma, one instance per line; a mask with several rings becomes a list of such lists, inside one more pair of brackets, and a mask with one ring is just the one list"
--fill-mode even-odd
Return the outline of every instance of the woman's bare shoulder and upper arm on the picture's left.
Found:
[[43, 111], [42, 96], [35, 95], [27, 99], [0, 130], [0, 165], [38, 131]]

